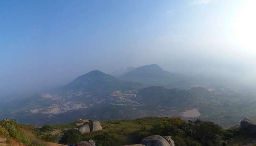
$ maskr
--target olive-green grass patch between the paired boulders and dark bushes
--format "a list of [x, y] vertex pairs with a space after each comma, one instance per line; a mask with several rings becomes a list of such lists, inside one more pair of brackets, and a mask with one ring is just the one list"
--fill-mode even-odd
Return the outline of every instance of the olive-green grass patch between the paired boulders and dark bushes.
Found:
[[118, 145], [134, 144], [138, 142], [137, 139], [140, 141], [141, 137], [144, 138], [150, 135], [147, 132], [143, 133], [143, 131], [150, 130], [155, 123], [167, 121], [168, 119], [165, 117], [146, 117], [139, 119], [108, 120], [101, 122], [102, 131], [84, 134], [83, 140], [88, 141], [102, 133], [108, 133], [118, 138]]

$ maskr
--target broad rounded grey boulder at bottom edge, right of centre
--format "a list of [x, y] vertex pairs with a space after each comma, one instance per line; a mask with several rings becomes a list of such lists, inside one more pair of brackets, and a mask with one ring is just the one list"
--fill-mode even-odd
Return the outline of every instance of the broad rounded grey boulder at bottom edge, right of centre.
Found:
[[[166, 139], [168, 139], [168, 141]], [[163, 138], [160, 135], [152, 135], [143, 138], [140, 144], [145, 146], [174, 146], [174, 142], [170, 141], [170, 139], [170, 137]]]

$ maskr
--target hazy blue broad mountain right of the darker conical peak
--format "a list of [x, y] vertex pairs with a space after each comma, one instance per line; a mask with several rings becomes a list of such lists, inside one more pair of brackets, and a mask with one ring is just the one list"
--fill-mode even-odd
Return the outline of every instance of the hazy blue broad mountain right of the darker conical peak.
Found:
[[184, 74], [167, 72], [158, 65], [151, 64], [131, 70], [118, 78], [124, 81], [141, 82], [146, 85], [164, 85], [186, 80], [189, 77]]

